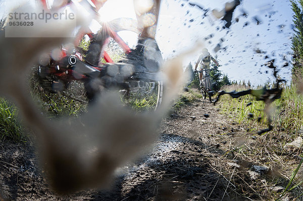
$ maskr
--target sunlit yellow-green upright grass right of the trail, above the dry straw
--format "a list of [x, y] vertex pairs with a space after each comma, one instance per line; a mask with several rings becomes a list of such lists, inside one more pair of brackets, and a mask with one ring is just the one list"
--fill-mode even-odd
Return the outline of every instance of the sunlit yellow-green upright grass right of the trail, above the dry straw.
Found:
[[[269, 86], [268, 86], [269, 87]], [[223, 88], [226, 91], [241, 91], [247, 87], [243, 85], [231, 85]], [[242, 96], [240, 98], [232, 98], [229, 95], [220, 97], [219, 105], [221, 112], [234, 118], [239, 123], [248, 123], [251, 126], [267, 126], [267, 117], [263, 112], [265, 104], [262, 101], [257, 101], [251, 95]], [[248, 103], [250, 106], [246, 107]], [[283, 128], [289, 132], [298, 132], [303, 127], [303, 96], [298, 94], [297, 85], [284, 86], [281, 98], [275, 100], [272, 104], [273, 112], [272, 119], [275, 127]], [[254, 114], [254, 118], [247, 121], [248, 113]], [[257, 120], [261, 117], [259, 123]]]

